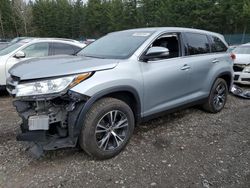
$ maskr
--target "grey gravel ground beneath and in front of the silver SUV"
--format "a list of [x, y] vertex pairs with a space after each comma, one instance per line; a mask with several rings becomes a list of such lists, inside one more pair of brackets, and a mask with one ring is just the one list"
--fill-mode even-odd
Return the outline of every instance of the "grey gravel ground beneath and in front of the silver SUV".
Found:
[[250, 187], [250, 100], [230, 96], [215, 115], [190, 108], [141, 124], [106, 161], [80, 149], [32, 158], [15, 140], [11, 100], [0, 96], [0, 187]]

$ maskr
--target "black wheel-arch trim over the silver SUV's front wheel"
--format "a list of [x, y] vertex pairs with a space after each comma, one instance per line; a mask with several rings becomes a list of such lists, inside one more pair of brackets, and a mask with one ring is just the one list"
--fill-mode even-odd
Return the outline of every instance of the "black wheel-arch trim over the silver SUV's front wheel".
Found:
[[138, 92], [131, 86], [111, 87], [111, 88], [98, 92], [97, 94], [93, 95], [86, 101], [86, 103], [83, 105], [78, 115], [75, 128], [74, 128], [74, 136], [77, 136], [77, 137], [79, 136], [82, 125], [83, 125], [83, 120], [85, 119], [85, 115], [88, 112], [88, 110], [91, 108], [91, 106], [103, 96], [111, 94], [111, 93], [115, 93], [115, 92], [130, 92], [131, 94], [133, 94], [137, 103], [137, 106], [136, 106], [137, 114], [135, 118], [137, 119], [137, 122], [141, 121], [141, 101], [140, 101]]

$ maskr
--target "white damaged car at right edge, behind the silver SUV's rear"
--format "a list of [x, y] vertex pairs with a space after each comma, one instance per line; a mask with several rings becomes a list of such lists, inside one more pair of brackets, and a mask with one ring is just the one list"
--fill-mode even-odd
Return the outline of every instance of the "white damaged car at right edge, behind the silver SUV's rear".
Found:
[[240, 45], [233, 51], [234, 56], [234, 82], [250, 84], [250, 43]]

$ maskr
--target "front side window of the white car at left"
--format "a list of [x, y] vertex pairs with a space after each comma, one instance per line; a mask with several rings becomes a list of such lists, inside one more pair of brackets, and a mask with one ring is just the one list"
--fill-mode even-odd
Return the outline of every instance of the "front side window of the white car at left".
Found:
[[49, 55], [49, 43], [42, 42], [31, 44], [22, 50], [25, 57], [44, 57]]

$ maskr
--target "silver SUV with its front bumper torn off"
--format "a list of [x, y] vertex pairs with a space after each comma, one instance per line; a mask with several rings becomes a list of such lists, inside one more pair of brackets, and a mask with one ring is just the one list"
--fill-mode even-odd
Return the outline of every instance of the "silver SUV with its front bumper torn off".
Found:
[[165, 112], [226, 103], [233, 61], [222, 35], [186, 28], [110, 33], [74, 57], [32, 59], [10, 70], [7, 89], [22, 117], [19, 141], [44, 150], [75, 147], [107, 159], [134, 126]]

